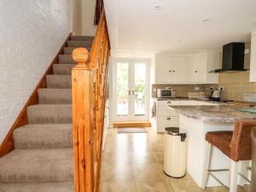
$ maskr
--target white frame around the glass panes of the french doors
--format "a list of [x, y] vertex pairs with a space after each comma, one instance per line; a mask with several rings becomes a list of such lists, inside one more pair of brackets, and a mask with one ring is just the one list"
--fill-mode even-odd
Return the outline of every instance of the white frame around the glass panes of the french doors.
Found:
[[[116, 80], [117, 80], [117, 62], [127, 62], [129, 65], [129, 87], [131, 87], [134, 79], [131, 80], [131, 63], [136, 61], [144, 61], [146, 63], [146, 101], [145, 101], [145, 113], [146, 115], [141, 117], [134, 117], [131, 115], [131, 99], [129, 99], [128, 104], [128, 116], [127, 117], [118, 117], [117, 116], [117, 105], [116, 105]], [[149, 120], [149, 110], [150, 110], [150, 66], [151, 59], [150, 58], [113, 58], [113, 121], [148, 121]], [[134, 67], [134, 65], [133, 65]], [[134, 107], [133, 107], [134, 108]]]

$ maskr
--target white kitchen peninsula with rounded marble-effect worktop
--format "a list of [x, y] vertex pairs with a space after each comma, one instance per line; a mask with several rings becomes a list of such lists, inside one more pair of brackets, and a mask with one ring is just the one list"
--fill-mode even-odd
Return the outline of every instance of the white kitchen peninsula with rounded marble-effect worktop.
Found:
[[[235, 122], [240, 119], [256, 119], [256, 114], [241, 113], [236, 109], [246, 108], [236, 105], [217, 106], [173, 106], [179, 114], [180, 129], [188, 135], [187, 171], [202, 189], [205, 182], [205, 136], [207, 131], [233, 131]], [[240, 171], [248, 161], [243, 161]], [[212, 148], [210, 169], [230, 168], [230, 160], [218, 148]], [[242, 170], [241, 170], [242, 169]], [[223, 183], [229, 185], [229, 172], [214, 173]], [[243, 184], [243, 180], [239, 180]], [[207, 182], [208, 187], [219, 186], [212, 177]]]

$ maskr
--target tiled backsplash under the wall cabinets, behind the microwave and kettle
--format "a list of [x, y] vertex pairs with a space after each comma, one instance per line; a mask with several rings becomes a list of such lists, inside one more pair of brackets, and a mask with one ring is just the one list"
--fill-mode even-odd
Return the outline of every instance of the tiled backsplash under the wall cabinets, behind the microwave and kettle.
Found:
[[[166, 87], [171, 87], [173, 90], [176, 90], [176, 96], [185, 96], [189, 95], [189, 92], [201, 92], [205, 91], [206, 96], [210, 96], [211, 90], [209, 88], [213, 84], [152, 84], [152, 96], [156, 97], [156, 89], [165, 89]], [[199, 90], [195, 90], [199, 88]]]

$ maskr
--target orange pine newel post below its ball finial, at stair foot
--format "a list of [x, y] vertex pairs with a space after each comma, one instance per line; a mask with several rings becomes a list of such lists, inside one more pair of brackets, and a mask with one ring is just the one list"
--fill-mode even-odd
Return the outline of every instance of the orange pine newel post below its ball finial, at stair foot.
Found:
[[75, 192], [94, 191], [93, 72], [85, 64], [72, 70], [73, 157]]

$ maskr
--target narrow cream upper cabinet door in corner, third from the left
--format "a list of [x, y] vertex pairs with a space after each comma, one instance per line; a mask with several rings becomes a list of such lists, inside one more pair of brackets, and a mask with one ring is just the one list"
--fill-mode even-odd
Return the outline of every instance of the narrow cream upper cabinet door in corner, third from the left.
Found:
[[195, 55], [188, 58], [188, 83], [196, 83], [198, 81], [198, 57]]

